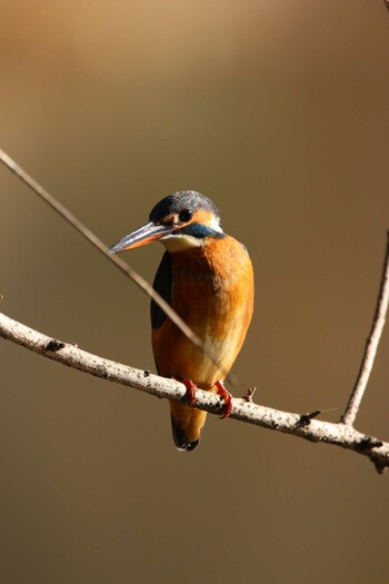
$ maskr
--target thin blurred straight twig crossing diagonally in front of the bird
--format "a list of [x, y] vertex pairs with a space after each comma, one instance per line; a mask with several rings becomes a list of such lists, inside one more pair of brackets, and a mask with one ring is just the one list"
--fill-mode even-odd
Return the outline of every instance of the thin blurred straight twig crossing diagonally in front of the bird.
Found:
[[[192, 329], [182, 320], [182, 318], [171, 308], [171, 306], [134, 269], [132, 269], [119, 256], [108, 253], [108, 246], [97, 237], [82, 221], [80, 221], [72, 212], [69, 211], [61, 202], [59, 202], [50, 192], [48, 192], [37, 180], [34, 180], [26, 170], [21, 168], [7, 152], [0, 149], [0, 162], [9, 168], [24, 185], [30, 187], [41, 199], [43, 199], [52, 209], [54, 209], [63, 219], [66, 219], [79, 234], [81, 234], [90, 244], [92, 244], [107, 259], [112, 261], [126, 276], [128, 276], [139, 288], [146, 293], [154, 303], [162, 308], [167, 316], [174, 323], [174, 325], [188, 337], [193, 345], [199, 347], [215, 364], [219, 364], [219, 358], [211, 355], [206, 349], [202, 340], [192, 331]], [[229, 372], [225, 372], [228, 375]], [[233, 376], [229, 376], [233, 379]]]

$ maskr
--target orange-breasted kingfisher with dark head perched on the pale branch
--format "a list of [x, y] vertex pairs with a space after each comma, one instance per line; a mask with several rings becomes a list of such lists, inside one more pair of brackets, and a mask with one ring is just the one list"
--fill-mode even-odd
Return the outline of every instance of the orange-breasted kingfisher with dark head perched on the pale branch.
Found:
[[253, 310], [253, 270], [246, 247], [223, 232], [220, 212], [205, 195], [182, 190], [160, 200], [149, 221], [110, 253], [152, 241], [166, 248], [153, 288], [202, 342], [196, 346], [151, 300], [152, 349], [158, 374], [182, 382], [186, 402], [170, 400], [179, 451], [193, 451], [207, 413], [196, 409], [197, 387], [219, 394], [231, 413], [225, 379], [245, 342]]

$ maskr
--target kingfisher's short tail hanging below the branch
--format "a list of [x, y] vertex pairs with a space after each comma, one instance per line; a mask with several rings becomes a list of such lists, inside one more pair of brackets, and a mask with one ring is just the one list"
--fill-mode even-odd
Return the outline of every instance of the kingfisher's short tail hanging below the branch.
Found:
[[207, 412], [193, 409], [178, 402], [170, 402], [171, 432], [179, 451], [193, 451], [199, 442]]

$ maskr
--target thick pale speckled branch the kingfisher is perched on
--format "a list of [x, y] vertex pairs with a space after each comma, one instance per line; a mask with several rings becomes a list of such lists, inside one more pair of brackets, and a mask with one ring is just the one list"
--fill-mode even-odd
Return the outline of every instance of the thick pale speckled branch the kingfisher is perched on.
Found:
[[[134, 369], [120, 363], [103, 359], [73, 345], [48, 337], [0, 313], [0, 336], [29, 348], [44, 357], [68, 365], [103, 379], [133, 387], [157, 397], [184, 402], [187, 388], [174, 379], [166, 379], [150, 372]], [[194, 407], [210, 414], [221, 414], [223, 403], [218, 395], [198, 389]], [[313, 414], [291, 414], [259, 406], [250, 399], [232, 399], [231, 417], [306, 438], [310, 442], [333, 444], [368, 456], [382, 473], [389, 466], [389, 443], [368, 436], [346, 424], [332, 424], [313, 419]]]

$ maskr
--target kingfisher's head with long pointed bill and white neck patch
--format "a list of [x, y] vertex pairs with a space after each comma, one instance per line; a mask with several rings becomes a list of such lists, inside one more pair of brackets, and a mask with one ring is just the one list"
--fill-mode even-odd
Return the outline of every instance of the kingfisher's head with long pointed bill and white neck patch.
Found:
[[124, 236], [109, 251], [116, 254], [161, 240], [169, 251], [174, 253], [200, 247], [210, 237], [225, 237], [219, 210], [208, 197], [194, 190], [174, 192], [160, 200], [149, 219], [148, 224]]

